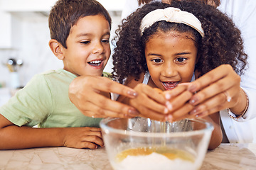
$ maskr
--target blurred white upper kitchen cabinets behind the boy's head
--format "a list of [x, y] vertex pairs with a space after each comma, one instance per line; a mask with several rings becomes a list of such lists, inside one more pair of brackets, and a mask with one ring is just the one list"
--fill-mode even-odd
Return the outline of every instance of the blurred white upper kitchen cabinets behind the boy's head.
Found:
[[[18, 49], [21, 38], [21, 13], [45, 13], [57, 0], [0, 0], [0, 49]], [[125, 0], [98, 0], [108, 11], [122, 11]], [[17, 14], [18, 13], [18, 14]]]

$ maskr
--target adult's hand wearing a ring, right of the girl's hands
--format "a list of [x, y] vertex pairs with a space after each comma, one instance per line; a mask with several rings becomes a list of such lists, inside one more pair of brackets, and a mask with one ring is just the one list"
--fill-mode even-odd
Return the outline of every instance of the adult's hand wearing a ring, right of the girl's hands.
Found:
[[246, 106], [246, 96], [240, 89], [240, 77], [228, 64], [204, 74], [188, 85], [193, 95], [189, 103], [196, 108], [191, 115], [205, 116], [230, 108], [233, 113], [242, 113]]

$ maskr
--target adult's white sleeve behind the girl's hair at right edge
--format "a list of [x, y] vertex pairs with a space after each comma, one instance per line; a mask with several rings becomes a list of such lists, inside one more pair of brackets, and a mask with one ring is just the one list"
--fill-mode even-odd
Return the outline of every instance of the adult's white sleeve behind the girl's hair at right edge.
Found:
[[255, 0], [221, 0], [220, 11], [233, 18], [240, 29], [248, 55], [248, 69], [241, 76], [240, 86], [249, 98], [249, 108], [239, 122], [252, 120], [256, 117], [256, 1]]

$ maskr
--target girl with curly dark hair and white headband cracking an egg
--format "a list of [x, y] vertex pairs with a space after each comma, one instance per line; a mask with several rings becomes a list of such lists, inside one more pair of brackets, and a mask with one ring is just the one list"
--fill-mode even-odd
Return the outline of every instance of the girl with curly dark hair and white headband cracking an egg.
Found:
[[[191, 117], [193, 106], [188, 101], [193, 93], [183, 83], [198, 79], [221, 64], [228, 65], [220, 69], [234, 69], [239, 74], [246, 66], [247, 55], [238, 28], [223, 13], [201, 2], [146, 4], [119, 26], [117, 35], [114, 79], [138, 93], [137, 98], [120, 96], [118, 100], [134, 106], [144, 117], [157, 120]], [[165, 98], [154, 88], [175, 88], [171, 91], [171, 101], [180, 101], [176, 111], [169, 113], [162, 107]], [[232, 96], [232, 102], [237, 102], [242, 93]], [[229, 94], [220, 97], [223, 104], [231, 102]], [[166, 105], [173, 110], [169, 102]], [[214, 149], [222, 140], [220, 115], [200, 116], [215, 127], [209, 145], [209, 149]]]

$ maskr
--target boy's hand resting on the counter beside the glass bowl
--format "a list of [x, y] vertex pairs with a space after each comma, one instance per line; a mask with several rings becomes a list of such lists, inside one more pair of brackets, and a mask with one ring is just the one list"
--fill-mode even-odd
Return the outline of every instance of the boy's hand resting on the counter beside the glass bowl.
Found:
[[65, 128], [64, 147], [97, 149], [104, 147], [100, 128]]

